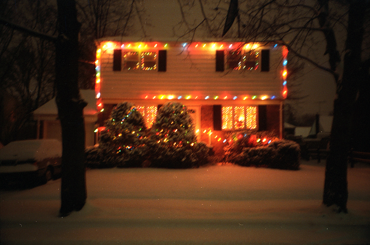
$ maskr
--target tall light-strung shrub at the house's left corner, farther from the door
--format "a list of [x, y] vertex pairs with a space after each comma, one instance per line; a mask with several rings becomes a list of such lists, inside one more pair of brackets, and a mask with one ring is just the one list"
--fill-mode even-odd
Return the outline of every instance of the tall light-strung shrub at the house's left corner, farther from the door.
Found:
[[105, 123], [99, 139], [105, 166], [138, 167], [146, 159], [145, 122], [129, 102], [118, 104]]

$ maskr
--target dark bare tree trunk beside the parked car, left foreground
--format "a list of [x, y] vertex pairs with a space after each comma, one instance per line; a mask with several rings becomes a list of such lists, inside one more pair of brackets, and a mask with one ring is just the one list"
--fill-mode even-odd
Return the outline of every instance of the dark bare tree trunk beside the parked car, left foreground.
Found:
[[62, 176], [60, 216], [79, 211], [86, 201], [85, 130], [78, 90], [78, 32], [74, 0], [57, 0], [58, 40], [56, 43], [56, 102], [62, 126]]

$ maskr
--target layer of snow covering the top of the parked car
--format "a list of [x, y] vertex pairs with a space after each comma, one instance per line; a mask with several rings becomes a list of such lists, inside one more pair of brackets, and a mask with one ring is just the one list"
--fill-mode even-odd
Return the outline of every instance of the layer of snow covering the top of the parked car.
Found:
[[42, 160], [62, 156], [62, 144], [56, 139], [13, 141], [0, 150], [0, 160]]

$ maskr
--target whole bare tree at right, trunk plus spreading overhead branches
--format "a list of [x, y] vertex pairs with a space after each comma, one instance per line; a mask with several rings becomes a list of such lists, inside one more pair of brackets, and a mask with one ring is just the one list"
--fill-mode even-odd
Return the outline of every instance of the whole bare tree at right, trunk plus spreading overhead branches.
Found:
[[[204, 17], [189, 24], [183, 14], [180, 24], [186, 30], [178, 36], [221, 36], [227, 3], [207, 1], [206, 12], [205, 1], [178, 1], [182, 12], [185, 7], [201, 5]], [[370, 34], [369, 11], [367, 0], [240, 0], [237, 21], [225, 35], [245, 42], [280, 41], [290, 54], [332, 75], [336, 99], [323, 204], [338, 206], [338, 212], [347, 212], [347, 157], [354, 106], [369, 105], [369, 96], [364, 96], [369, 93], [370, 45], [364, 39]], [[358, 98], [363, 98], [361, 105], [356, 103]]]

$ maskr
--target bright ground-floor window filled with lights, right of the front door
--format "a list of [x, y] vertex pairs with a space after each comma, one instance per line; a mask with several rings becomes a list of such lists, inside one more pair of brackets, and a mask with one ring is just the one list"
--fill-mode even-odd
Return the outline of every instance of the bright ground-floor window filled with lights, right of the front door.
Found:
[[256, 106], [223, 106], [222, 129], [257, 128]]

